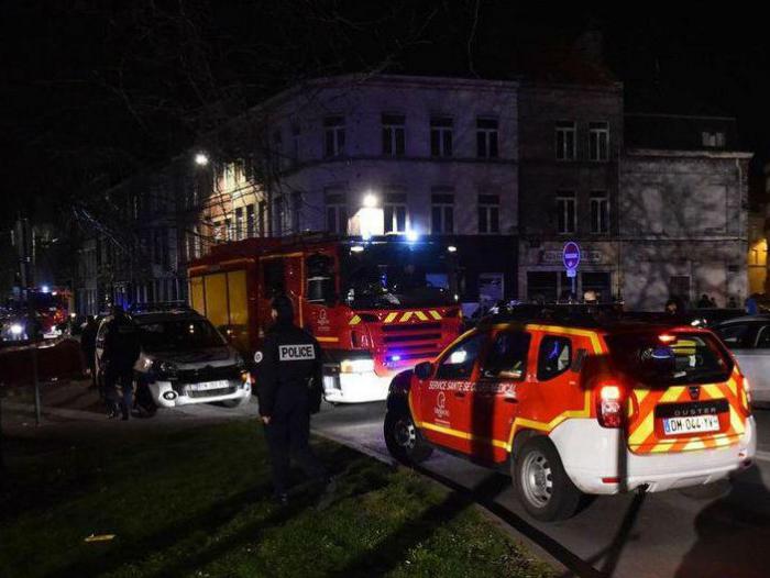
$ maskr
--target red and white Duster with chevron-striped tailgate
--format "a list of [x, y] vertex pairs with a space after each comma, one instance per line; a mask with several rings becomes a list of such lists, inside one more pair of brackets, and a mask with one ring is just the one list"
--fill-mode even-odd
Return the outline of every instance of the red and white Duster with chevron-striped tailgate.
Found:
[[491, 319], [396, 376], [384, 430], [400, 460], [435, 447], [510, 471], [540, 520], [581, 494], [710, 483], [756, 451], [750, 390], [708, 330]]

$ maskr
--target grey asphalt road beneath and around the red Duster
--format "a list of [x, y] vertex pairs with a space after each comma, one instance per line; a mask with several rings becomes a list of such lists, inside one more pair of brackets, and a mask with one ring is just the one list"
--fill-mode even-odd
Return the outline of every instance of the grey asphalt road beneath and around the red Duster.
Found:
[[[314, 430], [369, 453], [387, 456], [384, 403], [326, 407]], [[437, 452], [426, 469], [493, 503], [504, 523], [586, 576], [629, 578], [749, 578], [770, 576], [770, 411], [756, 412], [756, 466], [733, 483], [702, 491], [672, 490], [593, 500], [576, 516], [546, 524], [518, 504], [509, 480]], [[705, 496], [704, 496], [705, 493]], [[587, 565], [596, 571], [591, 570]], [[564, 576], [573, 576], [566, 571]]]

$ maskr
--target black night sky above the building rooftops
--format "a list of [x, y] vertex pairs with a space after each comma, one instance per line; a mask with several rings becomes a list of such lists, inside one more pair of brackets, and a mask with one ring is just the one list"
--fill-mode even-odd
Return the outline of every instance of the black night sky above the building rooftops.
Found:
[[627, 111], [736, 115], [761, 173], [770, 158], [761, 18], [725, 8], [537, 13], [512, 4], [2, 2], [3, 218], [50, 208], [66, 220], [58, 209], [161, 166], [200, 132], [302, 78], [359, 70], [510, 78], [546, 54], [564, 54], [588, 26], [604, 34]]

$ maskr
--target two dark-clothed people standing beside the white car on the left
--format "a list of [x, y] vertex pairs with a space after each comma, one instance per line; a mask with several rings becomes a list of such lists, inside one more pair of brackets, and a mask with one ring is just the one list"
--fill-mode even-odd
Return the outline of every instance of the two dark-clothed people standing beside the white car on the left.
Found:
[[[88, 315], [80, 334], [80, 348], [91, 373], [92, 387], [107, 407], [107, 415], [121, 416], [124, 421], [131, 415], [133, 407], [133, 371], [140, 354], [139, 330], [125, 314], [123, 308], [114, 305], [112, 316], [105, 327], [105, 341], [99, 358], [99, 379], [96, 359], [96, 341], [99, 323], [94, 315]], [[120, 394], [118, 391], [120, 388]]]

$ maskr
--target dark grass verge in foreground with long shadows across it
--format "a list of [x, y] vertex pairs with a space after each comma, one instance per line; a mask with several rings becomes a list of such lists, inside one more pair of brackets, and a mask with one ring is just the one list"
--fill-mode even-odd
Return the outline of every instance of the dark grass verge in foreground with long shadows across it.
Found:
[[301, 483], [273, 504], [253, 422], [98, 436], [11, 441], [3, 576], [551, 575], [457, 494], [336, 444], [316, 444], [338, 475], [317, 510]]

